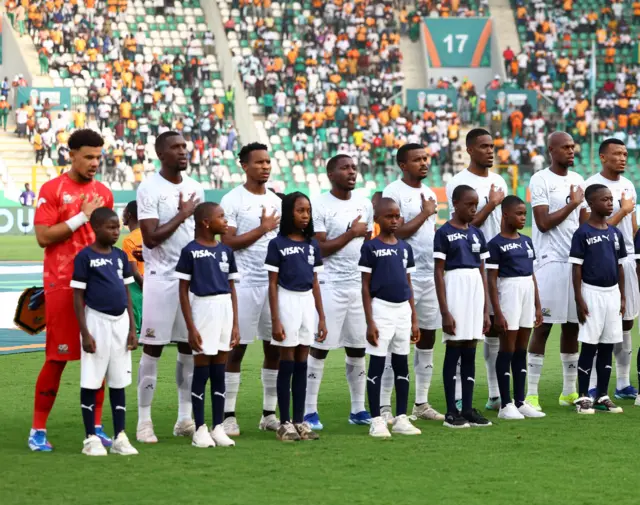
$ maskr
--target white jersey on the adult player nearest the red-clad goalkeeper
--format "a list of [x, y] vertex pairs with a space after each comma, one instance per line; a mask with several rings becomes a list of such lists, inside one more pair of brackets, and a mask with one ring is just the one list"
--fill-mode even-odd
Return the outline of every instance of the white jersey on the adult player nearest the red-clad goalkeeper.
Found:
[[[173, 184], [159, 173], [148, 176], [136, 193], [138, 219], [157, 219], [158, 226], [171, 221], [178, 213], [178, 203], [188, 200], [195, 194], [196, 199], [204, 202], [204, 189], [199, 182], [182, 174], [182, 182]], [[167, 240], [153, 249], [142, 246], [145, 275], [173, 276], [182, 248], [195, 236], [193, 215], [180, 224]]]

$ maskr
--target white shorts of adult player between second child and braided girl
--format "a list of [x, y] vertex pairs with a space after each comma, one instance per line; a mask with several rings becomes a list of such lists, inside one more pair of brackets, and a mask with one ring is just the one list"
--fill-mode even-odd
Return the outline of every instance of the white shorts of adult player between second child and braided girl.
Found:
[[271, 310], [269, 286], [243, 286], [236, 283], [238, 298], [238, 329], [240, 343], [252, 344], [256, 337], [271, 340]]

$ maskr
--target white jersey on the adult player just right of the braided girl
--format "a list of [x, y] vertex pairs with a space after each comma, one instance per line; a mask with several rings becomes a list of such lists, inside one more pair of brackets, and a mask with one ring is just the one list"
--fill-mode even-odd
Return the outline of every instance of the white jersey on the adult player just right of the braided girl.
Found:
[[[313, 200], [313, 228], [316, 233], [326, 233], [333, 240], [345, 233], [358, 217], [367, 223], [367, 231], [373, 231], [373, 206], [366, 198], [351, 193], [349, 200], [340, 200], [331, 193], [323, 193]], [[318, 278], [330, 283], [359, 283], [358, 270], [360, 248], [364, 238], [355, 238], [334, 254], [323, 258], [324, 272]]]

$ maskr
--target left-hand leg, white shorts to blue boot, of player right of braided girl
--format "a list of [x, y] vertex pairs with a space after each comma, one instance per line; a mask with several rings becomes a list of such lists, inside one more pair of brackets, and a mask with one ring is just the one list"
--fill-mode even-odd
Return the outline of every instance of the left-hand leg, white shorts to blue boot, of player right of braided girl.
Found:
[[[329, 351], [340, 346], [344, 322], [347, 317], [349, 297], [337, 286], [321, 284], [322, 304], [327, 314], [327, 338], [324, 342], [313, 342], [307, 360], [307, 394], [305, 399], [304, 420], [314, 431], [322, 430], [318, 414], [318, 395], [324, 375], [324, 364]], [[365, 326], [366, 334], [366, 326]]]

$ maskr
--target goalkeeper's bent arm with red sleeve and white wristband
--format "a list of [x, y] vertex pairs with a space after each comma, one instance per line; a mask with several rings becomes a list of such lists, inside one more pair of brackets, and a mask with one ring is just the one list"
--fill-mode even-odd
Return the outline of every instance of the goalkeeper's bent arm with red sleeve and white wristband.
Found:
[[[104, 205], [104, 199], [95, 195], [92, 200], [82, 202], [80, 212], [62, 223], [56, 223], [57, 209], [55, 202], [41, 197], [36, 210], [36, 225], [34, 226], [36, 240], [42, 248], [48, 247], [69, 239], [73, 233], [89, 222], [89, 218], [95, 209]], [[53, 219], [52, 219], [53, 217]], [[45, 224], [47, 223], [47, 224]], [[51, 224], [48, 224], [51, 223]]]

